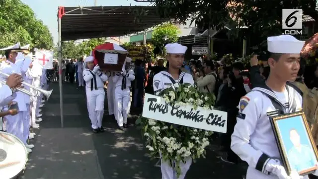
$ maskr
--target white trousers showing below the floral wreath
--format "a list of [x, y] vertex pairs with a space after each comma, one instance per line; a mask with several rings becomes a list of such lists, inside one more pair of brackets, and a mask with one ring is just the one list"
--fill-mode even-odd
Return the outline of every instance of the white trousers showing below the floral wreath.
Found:
[[174, 161], [172, 162], [172, 167], [170, 166], [171, 164], [169, 164], [170, 161], [163, 161], [163, 159], [161, 159], [161, 175], [162, 178], [161, 179], [184, 179], [185, 175], [187, 174], [188, 170], [190, 169], [190, 166], [192, 164], [192, 158], [188, 157], [185, 159], [185, 163], [183, 163], [182, 161], [180, 162], [180, 169], [181, 169], [181, 175], [179, 176], [179, 178], [177, 178], [177, 173], [176, 171], [173, 169], [174, 167]]

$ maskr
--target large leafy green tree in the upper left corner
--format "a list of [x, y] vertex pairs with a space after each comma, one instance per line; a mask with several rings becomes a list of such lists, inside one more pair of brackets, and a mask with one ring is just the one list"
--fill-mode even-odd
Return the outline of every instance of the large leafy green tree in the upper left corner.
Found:
[[0, 1], [0, 48], [20, 42], [31, 48], [53, 48], [53, 37], [46, 25], [21, 0]]

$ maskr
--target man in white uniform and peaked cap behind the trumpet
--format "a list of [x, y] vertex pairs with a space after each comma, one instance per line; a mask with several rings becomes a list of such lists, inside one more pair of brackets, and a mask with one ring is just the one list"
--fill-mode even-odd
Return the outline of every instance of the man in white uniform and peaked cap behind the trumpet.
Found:
[[[17, 43], [13, 46], [7, 47], [5, 49], [0, 49], [5, 51], [6, 56], [6, 63], [1, 65], [1, 72], [4, 74], [12, 74], [16, 73], [21, 75], [21, 66], [15, 64], [17, 52], [22, 51], [20, 49], [20, 43]], [[0, 80], [5, 80], [6, 77], [1, 75]], [[19, 113], [17, 115], [7, 115], [4, 118], [6, 119], [6, 131], [10, 134], [15, 135], [17, 138], [19, 138], [26, 146], [27, 151], [31, 152], [31, 148], [33, 148], [33, 145], [27, 145], [26, 141], [24, 142], [23, 138], [23, 117], [25, 117], [26, 113], [26, 102], [24, 94], [20, 91], [16, 91], [16, 97], [13, 99], [13, 101], [17, 102]], [[3, 110], [8, 110], [8, 106], [4, 107]]]

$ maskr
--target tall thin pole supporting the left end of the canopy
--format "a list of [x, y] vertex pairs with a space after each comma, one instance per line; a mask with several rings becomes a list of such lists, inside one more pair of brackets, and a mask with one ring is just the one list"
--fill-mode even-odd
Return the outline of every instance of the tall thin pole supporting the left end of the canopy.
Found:
[[[61, 11], [61, 8], [59, 8]], [[60, 12], [61, 13], [61, 12]], [[59, 13], [59, 14], [60, 14]], [[61, 27], [61, 19], [62, 15], [59, 15], [59, 86], [60, 86], [60, 114], [61, 114], [61, 127], [64, 127], [64, 116], [63, 116], [63, 88], [62, 88], [62, 27]]]

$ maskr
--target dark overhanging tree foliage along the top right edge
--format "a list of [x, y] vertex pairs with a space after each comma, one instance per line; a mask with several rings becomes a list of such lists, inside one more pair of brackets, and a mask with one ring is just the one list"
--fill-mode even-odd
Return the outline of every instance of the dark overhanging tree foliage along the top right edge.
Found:
[[191, 23], [204, 29], [208, 29], [209, 23], [217, 30], [230, 25], [231, 34], [237, 37], [281, 34], [283, 8], [302, 8], [303, 14], [318, 23], [316, 0], [156, 0], [155, 3], [161, 16], [183, 23], [192, 19]]

